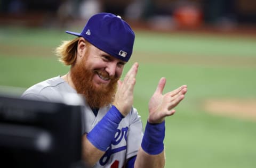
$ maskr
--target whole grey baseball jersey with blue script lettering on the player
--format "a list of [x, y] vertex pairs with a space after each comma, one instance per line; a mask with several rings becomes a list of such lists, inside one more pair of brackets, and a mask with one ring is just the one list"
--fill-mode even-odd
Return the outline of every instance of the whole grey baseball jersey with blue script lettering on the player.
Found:
[[[86, 104], [85, 98], [79, 96], [76, 90], [70, 87], [61, 77], [37, 83], [27, 89], [22, 97], [52, 102], [76, 102], [76, 104], [82, 105], [83, 134], [90, 132], [111, 108], [111, 105], [100, 108], [97, 116], [95, 116]], [[142, 136], [140, 116], [137, 110], [132, 108], [131, 112], [119, 123], [110, 147], [94, 167], [123, 167], [127, 158], [137, 155]]]

